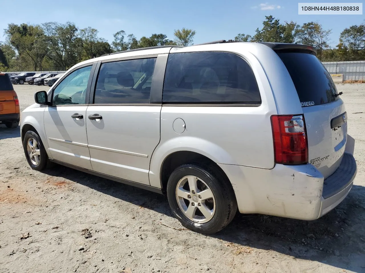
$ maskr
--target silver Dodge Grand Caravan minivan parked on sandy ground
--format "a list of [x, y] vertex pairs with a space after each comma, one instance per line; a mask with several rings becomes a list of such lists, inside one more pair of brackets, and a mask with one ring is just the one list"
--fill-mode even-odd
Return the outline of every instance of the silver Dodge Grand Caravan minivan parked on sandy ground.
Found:
[[341, 93], [316, 50], [218, 41], [108, 54], [70, 68], [22, 113], [32, 169], [55, 162], [166, 193], [211, 234], [240, 213], [313, 220], [357, 167]]

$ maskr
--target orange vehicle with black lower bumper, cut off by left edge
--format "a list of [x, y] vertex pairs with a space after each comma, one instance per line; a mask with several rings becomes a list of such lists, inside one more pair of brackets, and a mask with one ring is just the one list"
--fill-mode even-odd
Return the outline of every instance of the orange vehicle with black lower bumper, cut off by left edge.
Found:
[[19, 100], [9, 76], [0, 72], [0, 123], [8, 128], [19, 126]]

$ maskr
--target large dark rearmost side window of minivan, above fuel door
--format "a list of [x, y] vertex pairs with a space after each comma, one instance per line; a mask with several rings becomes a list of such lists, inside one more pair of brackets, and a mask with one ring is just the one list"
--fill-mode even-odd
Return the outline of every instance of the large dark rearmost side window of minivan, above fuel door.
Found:
[[253, 72], [239, 56], [226, 52], [170, 54], [163, 102], [260, 103]]

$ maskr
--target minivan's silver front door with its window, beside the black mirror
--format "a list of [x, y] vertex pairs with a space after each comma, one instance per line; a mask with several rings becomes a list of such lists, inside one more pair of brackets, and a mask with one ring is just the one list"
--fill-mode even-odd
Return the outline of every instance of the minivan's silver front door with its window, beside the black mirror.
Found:
[[53, 88], [52, 106], [44, 112], [52, 158], [91, 170], [86, 135], [85, 95], [91, 85], [92, 65], [78, 68]]

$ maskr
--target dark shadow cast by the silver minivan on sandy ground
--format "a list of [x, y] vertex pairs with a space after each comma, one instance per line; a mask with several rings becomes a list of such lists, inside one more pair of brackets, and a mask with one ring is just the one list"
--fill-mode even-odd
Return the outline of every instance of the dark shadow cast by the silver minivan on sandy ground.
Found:
[[[164, 195], [58, 165], [45, 173], [174, 217]], [[276, 251], [293, 258], [365, 272], [364, 195], [365, 187], [354, 185], [336, 209], [315, 221], [237, 213], [230, 225], [210, 236], [237, 247]]]

